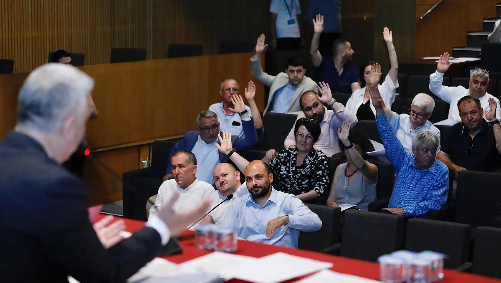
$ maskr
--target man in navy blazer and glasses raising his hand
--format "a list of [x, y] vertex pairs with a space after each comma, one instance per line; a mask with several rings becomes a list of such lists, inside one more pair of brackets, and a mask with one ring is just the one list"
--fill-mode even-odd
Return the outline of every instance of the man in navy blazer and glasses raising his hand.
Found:
[[[241, 96], [233, 97], [235, 103], [233, 112], [241, 113], [245, 110], [245, 104]], [[254, 128], [254, 120], [249, 117], [248, 113], [241, 113], [242, 128], [245, 138], [232, 136], [234, 148], [238, 151], [243, 151], [258, 142], [258, 134]], [[184, 138], [176, 143], [169, 154], [169, 160], [172, 160], [172, 155], [178, 150], [186, 150], [192, 152], [196, 156], [198, 170], [196, 177], [201, 181], [214, 185], [212, 171], [219, 163], [228, 162], [228, 157], [220, 153], [215, 144], [219, 132], [219, 122], [217, 114], [212, 111], [202, 111], [196, 118], [196, 126], [198, 131], [189, 131], [184, 135]], [[163, 180], [172, 179], [172, 167], [167, 165], [166, 175]]]

